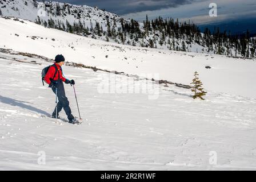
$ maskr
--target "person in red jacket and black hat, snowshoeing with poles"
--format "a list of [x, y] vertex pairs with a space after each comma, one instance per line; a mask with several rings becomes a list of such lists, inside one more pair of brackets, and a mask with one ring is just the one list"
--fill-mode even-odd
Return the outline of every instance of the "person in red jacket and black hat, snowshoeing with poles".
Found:
[[47, 84], [49, 84], [49, 87], [53, 90], [55, 94], [57, 92], [57, 97], [59, 101], [51, 117], [56, 118], [56, 115], [57, 115], [57, 118], [59, 118], [59, 112], [63, 108], [65, 110], [67, 118], [69, 119], [69, 122], [75, 124], [75, 123], [78, 123], [78, 120], [71, 114], [69, 100], [67, 100], [64, 85], [63, 85], [63, 82], [65, 82], [65, 84], [74, 85], [75, 81], [68, 80], [67, 78], [63, 77], [61, 67], [64, 64], [64, 61], [65, 61], [64, 56], [57, 55], [55, 57], [55, 63], [51, 65], [51, 67], [49, 68], [49, 70], [45, 75], [45, 81], [47, 82]]

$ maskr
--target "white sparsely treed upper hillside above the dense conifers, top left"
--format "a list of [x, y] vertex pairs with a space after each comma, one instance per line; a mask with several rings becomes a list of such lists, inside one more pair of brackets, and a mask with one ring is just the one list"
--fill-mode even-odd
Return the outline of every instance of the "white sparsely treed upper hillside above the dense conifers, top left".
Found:
[[[60, 10], [59, 13], [57, 12], [57, 6]], [[107, 18], [110, 20], [115, 19], [117, 22], [121, 19], [117, 14], [100, 10], [98, 7], [78, 6], [54, 1], [37, 2], [35, 5], [33, 0], [0, 0], [0, 8], [5, 16], [15, 16], [33, 22], [39, 16], [42, 20], [47, 21], [52, 18], [53, 20], [60, 20], [65, 24], [66, 20], [71, 24], [81, 20], [89, 28], [90, 22], [95, 26], [95, 21], [106, 24]]]

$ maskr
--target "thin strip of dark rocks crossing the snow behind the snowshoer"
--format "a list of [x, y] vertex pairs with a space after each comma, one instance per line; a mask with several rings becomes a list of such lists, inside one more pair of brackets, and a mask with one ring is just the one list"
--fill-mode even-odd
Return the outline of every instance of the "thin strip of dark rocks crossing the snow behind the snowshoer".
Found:
[[[49, 59], [48, 57], [41, 56], [41, 55], [36, 55], [36, 54], [33, 54], [33, 53], [18, 52], [18, 51], [13, 51], [13, 49], [4, 49], [4, 48], [0, 48], [0, 52], [7, 53], [7, 54], [10, 54], [10, 55], [22, 55], [22, 56], [26, 56], [26, 57], [30, 57], [30, 58], [38, 58], [38, 59], [42, 59], [42, 60], [47, 61], [47, 62], [54, 63], [53, 59]], [[7, 60], [9, 59], [9, 58], [6, 58], [6, 57], [0, 57], [0, 58], [7, 59]], [[28, 62], [28, 61], [18, 60], [16, 58], [13, 58], [12, 60], [13, 61], [22, 62], [22, 63], [39, 64], [39, 65], [41, 65], [41, 63], [35, 63], [35, 61]], [[74, 63], [74, 62], [67, 61], [65, 63], [65, 65], [70, 66], [70, 67], [92, 69], [94, 72], [103, 71], [103, 72], [107, 72], [107, 73], [114, 73], [116, 75], [123, 75], [123, 76], [127, 76], [127, 77], [135, 77], [135, 78], [137, 78], [139, 80], [151, 80], [151, 81], [154, 81], [156, 84], [165, 84], [165, 86], [167, 86], [167, 84], [170, 84], [170, 85], [175, 85], [175, 86], [178, 86], [180, 88], [185, 88], [185, 89], [190, 89], [191, 88], [190, 85], [179, 84], [179, 83], [171, 82], [171, 81], [167, 81], [167, 80], [155, 80], [154, 78], [139, 77], [138, 75], [130, 75], [130, 74], [125, 73], [125, 72], [109, 71], [107, 69], [91, 67], [91, 66], [87, 66], [87, 65], [84, 65], [84, 64], [81, 64], [81, 63]]]

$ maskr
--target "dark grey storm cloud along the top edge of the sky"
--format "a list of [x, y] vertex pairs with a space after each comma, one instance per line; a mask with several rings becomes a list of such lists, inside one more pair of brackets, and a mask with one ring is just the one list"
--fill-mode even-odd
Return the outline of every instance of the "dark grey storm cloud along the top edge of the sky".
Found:
[[141, 11], [153, 11], [168, 7], [178, 7], [197, 0], [55, 0], [75, 5], [98, 6], [113, 13], [123, 15]]

